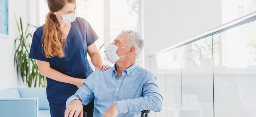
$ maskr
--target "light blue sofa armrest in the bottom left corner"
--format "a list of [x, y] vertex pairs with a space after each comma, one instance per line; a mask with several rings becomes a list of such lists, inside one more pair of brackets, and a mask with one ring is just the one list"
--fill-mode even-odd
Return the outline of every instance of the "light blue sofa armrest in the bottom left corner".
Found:
[[0, 115], [3, 117], [39, 117], [38, 98], [0, 99]]

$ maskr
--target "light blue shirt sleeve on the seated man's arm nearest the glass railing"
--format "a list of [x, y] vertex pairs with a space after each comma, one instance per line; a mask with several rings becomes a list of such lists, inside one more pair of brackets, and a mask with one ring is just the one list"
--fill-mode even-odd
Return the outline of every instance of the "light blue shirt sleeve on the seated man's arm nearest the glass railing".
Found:
[[151, 78], [143, 87], [143, 97], [117, 101], [118, 112], [133, 113], [143, 110], [159, 112], [162, 110], [163, 97], [157, 86], [156, 78]]

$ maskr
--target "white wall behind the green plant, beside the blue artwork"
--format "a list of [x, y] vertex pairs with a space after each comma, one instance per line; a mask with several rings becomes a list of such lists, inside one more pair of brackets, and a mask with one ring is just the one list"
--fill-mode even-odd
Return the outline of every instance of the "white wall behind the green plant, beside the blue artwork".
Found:
[[36, 8], [36, 0], [9, 0], [9, 38], [0, 37], [0, 90], [22, 87], [14, 68], [14, 39], [19, 37], [14, 13], [18, 23], [21, 16], [25, 30], [29, 18], [31, 18], [31, 23], [36, 25], [36, 9], [31, 10], [33, 7]]

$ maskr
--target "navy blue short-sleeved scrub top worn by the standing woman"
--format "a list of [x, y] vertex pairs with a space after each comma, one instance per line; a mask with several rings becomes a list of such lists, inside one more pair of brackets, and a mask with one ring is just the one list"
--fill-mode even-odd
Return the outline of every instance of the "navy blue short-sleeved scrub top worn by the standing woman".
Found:
[[[87, 60], [87, 47], [93, 44], [99, 37], [92, 26], [83, 18], [77, 17], [71, 23], [67, 36], [67, 47], [65, 57], [54, 56], [46, 58], [42, 50], [43, 27], [36, 29], [33, 35], [29, 58], [50, 62], [51, 68], [74, 78], [86, 79], [92, 72]], [[52, 104], [64, 104], [67, 99], [78, 90], [76, 85], [58, 82], [47, 78], [46, 93], [48, 101]]]

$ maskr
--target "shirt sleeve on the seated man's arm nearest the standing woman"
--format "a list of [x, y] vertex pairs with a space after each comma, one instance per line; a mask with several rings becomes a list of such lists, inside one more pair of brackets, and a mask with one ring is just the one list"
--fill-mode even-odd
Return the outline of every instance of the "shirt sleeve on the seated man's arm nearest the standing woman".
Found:
[[[83, 105], [89, 104], [94, 98], [94, 78], [95, 72], [93, 72], [89, 77], [84, 81], [83, 86], [79, 87], [77, 92], [69, 97], [66, 102], [66, 107], [75, 99], [80, 99]], [[97, 74], [96, 74], [97, 75]]]

